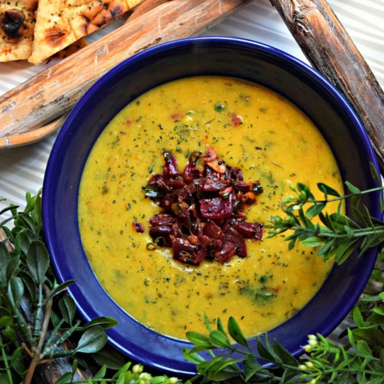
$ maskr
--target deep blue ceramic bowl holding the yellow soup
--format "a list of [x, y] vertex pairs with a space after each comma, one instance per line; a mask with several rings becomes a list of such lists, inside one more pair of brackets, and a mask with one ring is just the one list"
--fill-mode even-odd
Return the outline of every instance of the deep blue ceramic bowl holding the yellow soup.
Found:
[[[59, 281], [75, 279], [68, 290], [84, 318], [108, 315], [119, 321], [108, 331], [112, 346], [142, 364], [178, 375], [195, 373], [182, 355], [182, 348], [190, 344], [140, 325], [105, 293], [82, 249], [77, 194], [87, 156], [110, 119], [148, 89], [193, 75], [240, 77], [288, 98], [323, 133], [344, 180], [360, 189], [374, 186], [369, 162], [377, 168], [362, 124], [332, 84], [289, 54], [253, 41], [202, 37], [158, 45], [124, 61], [87, 91], [61, 128], [45, 173], [43, 225], [52, 265]], [[364, 203], [379, 217], [378, 195]], [[297, 355], [307, 344], [307, 334], [332, 332], [362, 292], [375, 258], [376, 251], [371, 250], [334, 267], [311, 302], [270, 331], [269, 337]], [[251, 346], [256, 350], [256, 340]]]

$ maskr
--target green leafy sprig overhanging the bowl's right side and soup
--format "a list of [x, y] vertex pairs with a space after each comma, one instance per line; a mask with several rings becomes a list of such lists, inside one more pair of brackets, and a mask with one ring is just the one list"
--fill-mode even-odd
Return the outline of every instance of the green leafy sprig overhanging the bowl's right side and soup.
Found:
[[[381, 185], [380, 179], [373, 165], [372, 176]], [[362, 195], [383, 191], [383, 186], [374, 189], [360, 191], [356, 186], [346, 182], [350, 191], [348, 195], [340, 195], [339, 192], [324, 183], [317, 184], [318, 190], [324, 194], [322, 200], [314, 197], [309, 186], [297, 183], [290, 185], [295, 193], [282, 200], [281, 209], [286, 216], [272, 216], [268, 237], [281, 235], [286, 231], [292, 231], [286, 237], [289, 242], [288, 249], [293, 249], [297, 241], [310, 247], [318, 247], [318, 256], [328, 260], [334, 256], [336, 263], [341, 264], [356, 249], [360, 249], [362, 255], [367, 249], [383, 244], [384, 222], [371, 216], [365, 205], [360, 207]], [[332, 196], [332, 198], [330, 198]], [[342, 213], [343, 202], [350, 200], [350, 207], [355, 220]], [[325, 211], [330, 203], [337, 202], [336, 212], [329, 214]], [[381, 199], [381, 207], [383, 207]], [[318, 218], [317, 223], [313, 222]]]

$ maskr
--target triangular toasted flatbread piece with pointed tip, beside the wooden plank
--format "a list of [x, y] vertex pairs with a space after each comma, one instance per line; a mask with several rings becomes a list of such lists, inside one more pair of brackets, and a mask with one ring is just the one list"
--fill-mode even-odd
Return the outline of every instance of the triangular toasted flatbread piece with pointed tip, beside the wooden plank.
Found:
[[40, 0], [29, 62], [41, 61], [118, 19], [141, 0]]

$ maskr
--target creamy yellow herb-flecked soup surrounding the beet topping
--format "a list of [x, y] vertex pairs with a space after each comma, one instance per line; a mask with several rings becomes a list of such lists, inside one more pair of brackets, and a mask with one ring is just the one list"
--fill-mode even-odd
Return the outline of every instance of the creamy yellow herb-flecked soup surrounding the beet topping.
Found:
[[[112, 119], [84, 168], [79, 226], [84, 251], [101, 285], [140, 323], [172, 337], [205, 332], [204, 316], [234, 316], [246, 336], [293, 316], [320, 288], [332, 263], [304, 246], [288, 251], [283, 237], [246, 240], [246, 258], [198, 267], [172, 259], [167, 248], [148, 250], [147, 219], [161, 209], [142, 187], [175, 154], [182, 171], [191, 152], [207, 145], [244, 181], [264, 192], [247, 221], [267, 224], [280, 214], [289, 182], [342, 191], [337, 163], [311, 121], [278, 94], [228, 77], [190, 77], [148, 91]], [[138, 233], [133, 221], [142, 223]], [[266, 294], [267, 293], [267, 294]]]

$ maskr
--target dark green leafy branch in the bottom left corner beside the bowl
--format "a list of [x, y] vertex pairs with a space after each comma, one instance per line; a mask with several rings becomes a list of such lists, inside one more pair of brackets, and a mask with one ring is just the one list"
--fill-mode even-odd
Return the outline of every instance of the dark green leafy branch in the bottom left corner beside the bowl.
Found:
[[[11, 205], [0, 217], [4, 214], [9, 217], [0, 222], [1, 384], [31, 383], [38, 366], [60, 357], [73, 363], [57, 380], [59, 384], [177, 383], [177, 378], [152, 377], [138, 364], [130, 369], [131, 363], [105, 346], [105, 330], [117, 325], [115, 319], [98, 317], [83, 323], [77, 318], [75, 302], [65, 293], [73, 281], [57, 283], [50, 269], [42, 235], [40, 193], [27, 193], [24, 211]], [[13, 228], [6, 226], [9, 222]], [[85, 376], [77, 375], [78, 362], [83, 371], [89, 367], [84, 354], [92, 355], [101, 368], [82, 380]], [[110, 374], [111, 369], [115, 373]]]

